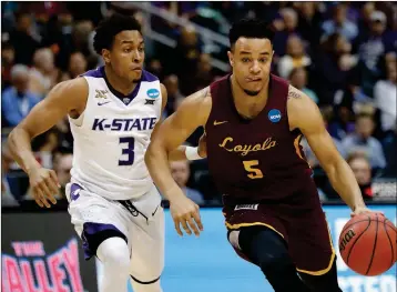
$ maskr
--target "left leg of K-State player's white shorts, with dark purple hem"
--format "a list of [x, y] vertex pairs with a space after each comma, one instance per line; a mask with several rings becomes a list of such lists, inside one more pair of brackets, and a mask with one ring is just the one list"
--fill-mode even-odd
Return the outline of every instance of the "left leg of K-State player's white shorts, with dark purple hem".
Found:
[[71, 222], [83, 241], [85, 259], [96, 254], [98, 246], [109, 238], [128, 242], [128, 217], [122, 205], [85, 191], [78, 184], [68, 184], [68, 211]]

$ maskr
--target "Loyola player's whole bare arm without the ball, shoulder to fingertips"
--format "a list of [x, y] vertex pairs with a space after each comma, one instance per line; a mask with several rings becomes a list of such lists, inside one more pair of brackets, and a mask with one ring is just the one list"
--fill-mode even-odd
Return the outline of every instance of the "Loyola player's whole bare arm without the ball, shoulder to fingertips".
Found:
[[206, 88], [187, 97], [176, 112], [153, 132], [145, 154], [145, 162], [154, 183], [161, 193], [170, 200], [171, 214], [180, 235], [182, 235], [180, 224], [187, 234], [191, 234], [192, 229], [196, 235], [198, 235], [198, 229], [202, 229], [202, 225], [198, 207], [185, 197], [171, 175], [169, 154], [181, 145], [196, 128], [205, 124], [211, 111], [211, 97], [207, 92]]

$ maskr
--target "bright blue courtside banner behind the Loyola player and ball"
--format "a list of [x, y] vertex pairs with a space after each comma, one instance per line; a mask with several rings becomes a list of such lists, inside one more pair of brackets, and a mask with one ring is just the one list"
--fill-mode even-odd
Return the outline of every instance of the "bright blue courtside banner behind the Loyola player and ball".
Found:
[[[374, 205], [396, 224], [396, 205]], [[378, 276], [363, 276], [346, 266], [339, 256], [338, 235], [350, 219], [344, 205], [324, 207], [338, 255], [338, 281], [344, 292], [396, 292], [396, 264]], [[221, 209], [201, 209], [204, 232], [200, 238], [180, 238], [166, 211], [164, 291], [173, 292], [271, 292], [258, 268], [240, 259], [226, 240]], [[132, 289], [129, 288], [132, 292]]]

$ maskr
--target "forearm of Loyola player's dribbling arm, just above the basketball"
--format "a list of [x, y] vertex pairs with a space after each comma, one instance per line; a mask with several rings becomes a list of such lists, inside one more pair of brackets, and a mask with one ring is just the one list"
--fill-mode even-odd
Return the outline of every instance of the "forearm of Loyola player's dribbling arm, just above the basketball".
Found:
[[337, 161], [334, 165], [329, 167], [327, 174], [336, 192], [353, 211], [356, 208], [365, 207], [362, 191], [346, 161], [343, 159]]

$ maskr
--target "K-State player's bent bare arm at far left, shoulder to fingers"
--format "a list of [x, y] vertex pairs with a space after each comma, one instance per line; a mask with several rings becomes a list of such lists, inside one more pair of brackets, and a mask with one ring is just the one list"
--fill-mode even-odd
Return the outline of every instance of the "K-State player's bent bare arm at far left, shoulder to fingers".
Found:
[[52, 128], [68, 113], [82, 112], [85, 108], [86, 97], [88, 84], [83, 78], [59, 83], [8, 137], [11, 154], [28, 173], [35, 202], [40, 207], [50, 208], [48, 199], [52, 203], [57, 203], [53, 195], [58, 193], [60, 185], [55, 172], [41, 168], [35, 160], [31, 140]]

